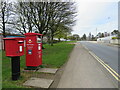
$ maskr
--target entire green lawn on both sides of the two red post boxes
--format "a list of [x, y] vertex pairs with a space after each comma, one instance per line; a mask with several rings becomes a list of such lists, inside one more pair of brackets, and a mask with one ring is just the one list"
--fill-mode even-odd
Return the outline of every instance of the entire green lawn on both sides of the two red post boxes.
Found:
[[[45, 44], [43, 50], [43, 67], [59, 68], [62, 66], [69, 57], [74, 44], [68, 44], [75, 41], [60, 42], [50, 46]], [[21, 56], [20, 60], [21, 70], [25, 68], [25, 55]], [[30, 73], [23, 73], [21, 71], [21, 77], [17, 81], [11, 80], [11, 60], [5, 56], [5, 52], [2, 53], [2, 87], [3, 88], [25, 88], [22, 86], [30, 77]]]

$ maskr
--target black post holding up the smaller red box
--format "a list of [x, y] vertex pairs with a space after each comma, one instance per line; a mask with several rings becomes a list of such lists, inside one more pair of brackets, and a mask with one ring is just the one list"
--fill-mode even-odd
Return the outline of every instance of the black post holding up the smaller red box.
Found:
[[18, 80], [20, 77], [20, 56], [11, 57], [12, 80]]

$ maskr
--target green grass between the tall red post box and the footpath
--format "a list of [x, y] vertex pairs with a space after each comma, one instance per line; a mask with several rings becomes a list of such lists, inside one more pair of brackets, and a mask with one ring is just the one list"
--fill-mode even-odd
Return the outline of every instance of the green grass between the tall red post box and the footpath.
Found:
[[70, 51], [73, 49], [73, 44], [66, 44], [68, 42], [61, 42], [54, 44], [54, 46], [44, 45], [46, 49], [43, 50], [43, 65], [53, 68], [62, 66], [69, 57]]

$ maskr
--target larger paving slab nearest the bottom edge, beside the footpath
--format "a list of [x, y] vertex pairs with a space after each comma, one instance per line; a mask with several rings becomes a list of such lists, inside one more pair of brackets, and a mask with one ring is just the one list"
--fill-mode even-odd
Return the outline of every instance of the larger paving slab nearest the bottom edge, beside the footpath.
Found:
[[32, 77], [27, 80], [23, 85], [37, 88], [49, 88], [52, 84], [53, 80], [51, 79], [43, 79], [43, 78], [35, 78]]

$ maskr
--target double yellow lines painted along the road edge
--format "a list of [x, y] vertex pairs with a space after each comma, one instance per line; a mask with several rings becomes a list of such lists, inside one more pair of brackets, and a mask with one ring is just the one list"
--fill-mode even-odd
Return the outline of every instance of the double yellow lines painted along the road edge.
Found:
[[[107, 64], [105, 64], [99, 57], [97, 57], [94, 53], [92, 53], [91, 51], [89, 51], [89, 53], [106, 69], [109, 71], [109, 73], [118, 81], [120, 81], [120, 79], [118, 77], [120, 77], [118, 75], [118, 73], [116, 73], [110, 66], [108, 66]], [[116, 76], [116, 75], [117, 76]]]

